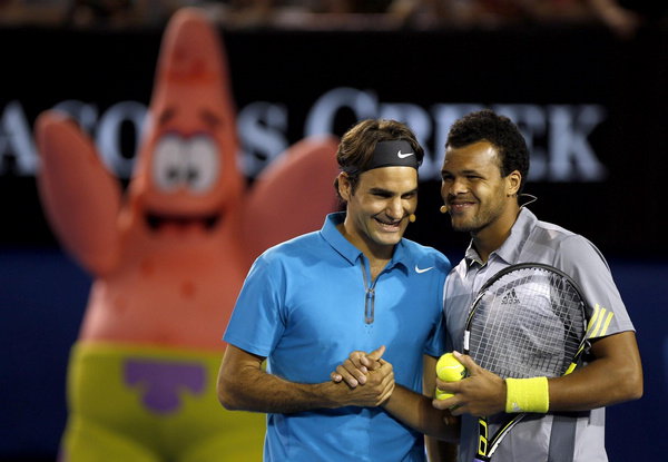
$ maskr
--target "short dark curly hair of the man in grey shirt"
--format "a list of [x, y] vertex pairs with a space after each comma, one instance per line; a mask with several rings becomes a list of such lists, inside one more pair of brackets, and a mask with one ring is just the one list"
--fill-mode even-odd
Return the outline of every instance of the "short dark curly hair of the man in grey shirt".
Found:
[[530, 161], [527, 141], [518, 126], [491, 109], [471, 112], [452, 124], [445, 149], [462, 148], [479, 141], [488, 141], [497, 148], [502, 177], [514, 170], [522, 175], [518, 194], [522, 193], [529, 176]]

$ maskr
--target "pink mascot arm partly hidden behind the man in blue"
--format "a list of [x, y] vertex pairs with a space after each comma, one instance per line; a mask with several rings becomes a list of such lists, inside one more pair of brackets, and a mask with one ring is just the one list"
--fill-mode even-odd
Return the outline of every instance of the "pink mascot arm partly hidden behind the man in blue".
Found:
[[334, 136], [305, 138], [258, 175], [243, 208], [249, 263], [273, 245], [320, 229], [336, 210], [337, 147]]

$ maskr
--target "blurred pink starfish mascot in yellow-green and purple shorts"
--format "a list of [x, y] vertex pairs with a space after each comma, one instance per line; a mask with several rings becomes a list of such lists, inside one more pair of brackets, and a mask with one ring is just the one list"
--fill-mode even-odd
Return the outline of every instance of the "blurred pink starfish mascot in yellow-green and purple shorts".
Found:
[[217, 403], [222, 336], [253, 259], [336, 208], [337, 140], [297, 142], [247, 188], [220, 43], [196, 9], [169, 21], [127, 190], [72, 120], [36, 124], [45, 213], [94, 278], [62, 461], [262, 458], [265, 416]]

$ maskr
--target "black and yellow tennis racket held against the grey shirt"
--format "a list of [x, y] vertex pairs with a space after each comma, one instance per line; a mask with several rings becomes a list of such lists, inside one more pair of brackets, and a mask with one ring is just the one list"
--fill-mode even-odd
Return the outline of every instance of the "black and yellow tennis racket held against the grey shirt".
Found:
[[[586, 345], [584, 298], [571, 277], [549, 265], [524, 263], [497, 273], [480, 289], [464, 331], [464, 354], [502, 379], [571, 373]], [[507, 419], [489, 439], [479, 417], [475, 462], [488, 462], [527, 413]]]

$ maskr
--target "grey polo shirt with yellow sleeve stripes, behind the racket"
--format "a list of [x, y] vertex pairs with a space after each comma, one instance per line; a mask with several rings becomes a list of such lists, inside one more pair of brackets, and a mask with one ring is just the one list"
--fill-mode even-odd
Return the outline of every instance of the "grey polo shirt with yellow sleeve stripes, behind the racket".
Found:
[[[472, 245], [445, 279], [444, 312], [450, 350], [463, 350], [466, 316], [475, 294], [499, 271], [517, 263], [543, 263], [570, 275], [580, 286], [591, 312], [589, 337], [635, 331], [608, 263], [584, 237], [540, 222], [521, 208], [503, 245], [482, 264]], [[499, 417], [490, 417], [490, 436]], [[501, 442], [494, 462], [587, 461], [606, 462], [605, 409], [578, 413], [527, 415]], [[459, 460], [472, 461], [478, 445], [478, 419], [462, 415]]]

